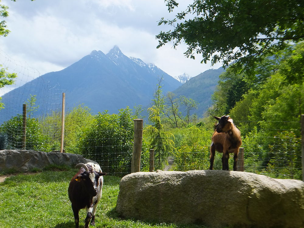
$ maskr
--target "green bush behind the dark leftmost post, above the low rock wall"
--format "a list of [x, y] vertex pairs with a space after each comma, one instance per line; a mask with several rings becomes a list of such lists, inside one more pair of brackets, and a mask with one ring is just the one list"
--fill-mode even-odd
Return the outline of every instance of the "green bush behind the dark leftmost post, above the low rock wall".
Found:
[[[0, 126], [0, 134], [5, 136], [5, 149], [23, 149], [22, 115], [4, 122]], [[38, 119], [26, 118], [26, 149], [49, 151], [48, 137], [43, 134]]]

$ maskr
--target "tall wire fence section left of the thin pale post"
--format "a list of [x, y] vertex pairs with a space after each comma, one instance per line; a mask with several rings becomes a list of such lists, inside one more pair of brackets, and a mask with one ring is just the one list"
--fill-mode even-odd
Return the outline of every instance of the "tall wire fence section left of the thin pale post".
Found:
[[[50, 151], [57, 149], [61, 129], [60, 85], [50, 85], [39, 71], [24, 61], [14, 60], [0, 49], [3, 75], [17, 74], [13, 85], [1, 86], [0, 149], [23, 149], [23, 106], [26, 105], [26, 148]], [[3, 76], [2, 75], [2, 76]]]

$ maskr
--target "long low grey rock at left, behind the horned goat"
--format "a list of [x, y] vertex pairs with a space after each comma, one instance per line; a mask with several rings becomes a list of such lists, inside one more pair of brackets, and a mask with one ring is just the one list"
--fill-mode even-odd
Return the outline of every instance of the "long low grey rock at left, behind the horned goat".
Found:
[[74, 167], [78, 163], [93, 162], [80, 154], [60, 152], [40, 152], [35, 150], [0, 150], [0, 171], [13, 169], [24, 172], [33, 168], [43, 169], [47, 165], [67, 165]]

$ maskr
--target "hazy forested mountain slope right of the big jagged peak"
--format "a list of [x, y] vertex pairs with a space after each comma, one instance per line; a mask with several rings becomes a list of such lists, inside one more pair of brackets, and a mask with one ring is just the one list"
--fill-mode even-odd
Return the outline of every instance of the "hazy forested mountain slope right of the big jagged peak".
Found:
[[[218, 69], [209, 69], [203, 73], [190, 78], [183, 85], [173, 91], [176, 97], [184, 95], [187, 98], [199, 102], [198, 109], [193, 110], [199, 117], [208, 109], [212, 104], [211, 95], [216, 89], [219, 81], [219, 75], [225, 71], [223, 67]], [[180, 110], [182, 111], [182, 110]]]

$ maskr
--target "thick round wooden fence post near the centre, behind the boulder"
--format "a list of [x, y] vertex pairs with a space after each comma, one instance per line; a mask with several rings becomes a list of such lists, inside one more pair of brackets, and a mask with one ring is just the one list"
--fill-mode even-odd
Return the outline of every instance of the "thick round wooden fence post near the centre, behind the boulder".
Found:
[[143, 145], [143, 119], [134, 119], [133, 154], [131, 173], [140, 171], [140, 155]]

